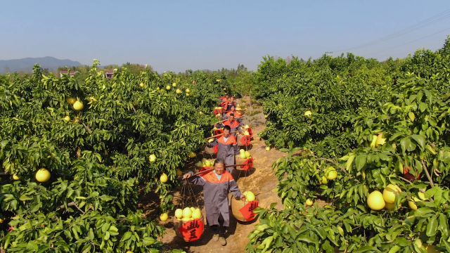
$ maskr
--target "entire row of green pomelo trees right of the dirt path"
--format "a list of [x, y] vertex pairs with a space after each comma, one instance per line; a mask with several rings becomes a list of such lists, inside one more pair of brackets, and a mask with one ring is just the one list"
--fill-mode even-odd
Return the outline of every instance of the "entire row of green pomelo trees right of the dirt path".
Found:
[[449, 77], [450, 39], [386, 63], [266, 58], [262, 136], [287, 153], [272, 165], [284, 209], [256, 210], [246, 249], [450, 252]]

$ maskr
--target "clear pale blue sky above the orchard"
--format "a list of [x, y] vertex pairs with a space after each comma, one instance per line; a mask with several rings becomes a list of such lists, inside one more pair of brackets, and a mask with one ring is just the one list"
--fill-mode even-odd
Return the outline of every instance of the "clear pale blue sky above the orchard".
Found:
[[449, 11], [449, 18], [358, 47], [450, 10], [449, 0], [9, 0], [0, 6], [0, 60], [53, 56], [91, 65], [95, 58], [158, 72], [238, 64], [257, 70], [267, 55], [307, 59], [348, 49], [365, 58], [403, 58], [418, 48], [441, 48], [450, 34]]

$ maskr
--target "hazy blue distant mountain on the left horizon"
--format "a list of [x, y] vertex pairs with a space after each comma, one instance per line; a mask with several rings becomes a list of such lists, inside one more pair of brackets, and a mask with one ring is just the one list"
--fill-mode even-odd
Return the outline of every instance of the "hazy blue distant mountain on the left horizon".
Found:
[[9, 68], [8, 72], [20, 72], [32, 71], [34, 64], [39, 64], [41, 67], [49, 68], [49, 70], [57, 70], [58, 67], [72, 67], [82, 65], [81, 63], [73, 60], [59, 60], [51, 56], [40, 57], [40, 58], [23, 58], [15, 60], [0, 60], [0, 73], [4, 73]]

